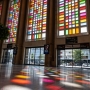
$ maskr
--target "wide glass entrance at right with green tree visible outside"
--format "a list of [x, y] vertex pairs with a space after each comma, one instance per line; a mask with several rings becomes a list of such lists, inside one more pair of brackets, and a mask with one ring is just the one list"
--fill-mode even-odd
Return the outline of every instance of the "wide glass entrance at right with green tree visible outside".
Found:
[[64, 67], [90, 67], [90, 49], [58, 50], [58, 62]]

